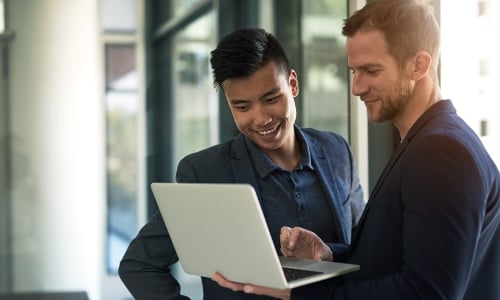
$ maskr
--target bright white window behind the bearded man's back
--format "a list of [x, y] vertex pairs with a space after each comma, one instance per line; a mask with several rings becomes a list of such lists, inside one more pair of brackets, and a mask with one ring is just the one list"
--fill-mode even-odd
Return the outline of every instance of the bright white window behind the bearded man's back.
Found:
[[497, 104], [500, 45], [495, 37], [499, 35], [499, 1], [441, 1], [443, 97], [453, 101], [497, 165], [500, 164]]

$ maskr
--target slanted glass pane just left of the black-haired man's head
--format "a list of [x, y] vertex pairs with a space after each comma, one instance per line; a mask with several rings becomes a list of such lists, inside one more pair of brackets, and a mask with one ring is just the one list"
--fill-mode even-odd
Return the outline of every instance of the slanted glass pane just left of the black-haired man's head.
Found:
[[210, 13], [174, 38], [174, 162], [218, 142], [217, 94], [212, 85], [210, 51], [215, 48]]

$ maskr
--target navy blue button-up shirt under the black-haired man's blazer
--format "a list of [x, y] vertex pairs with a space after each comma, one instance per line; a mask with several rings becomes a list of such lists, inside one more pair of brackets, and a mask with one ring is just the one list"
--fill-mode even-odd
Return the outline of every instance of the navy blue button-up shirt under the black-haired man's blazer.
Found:
[[311, 162], [307, 141], [296, 131], [300, 144], [301, 159], [291, 172], [276, 165], [257, 146], [245, 139], [261, 191], [261, 206], [267, 226], [279, 251], [282, 226], [300, 226], [315, 232], [323, 241], [338, 241], [328, 201], [321, 187], [318, 174]]

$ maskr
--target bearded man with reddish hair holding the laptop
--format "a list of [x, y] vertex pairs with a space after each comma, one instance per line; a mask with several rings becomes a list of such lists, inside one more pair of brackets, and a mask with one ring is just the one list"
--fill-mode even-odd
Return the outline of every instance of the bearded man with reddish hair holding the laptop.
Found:
[[217, 274], [219, 284], [279, 299], [500, 299], [500, 173], [441, 95], [440, 31], [427, 2], [370, 1], [344, 23], [352, 92], [371, 121], [392, 122], [401, 138], [349, 251], [336, 254], [314, 231], [282, 228], [283, 254], [360, 271], [292, 291]]

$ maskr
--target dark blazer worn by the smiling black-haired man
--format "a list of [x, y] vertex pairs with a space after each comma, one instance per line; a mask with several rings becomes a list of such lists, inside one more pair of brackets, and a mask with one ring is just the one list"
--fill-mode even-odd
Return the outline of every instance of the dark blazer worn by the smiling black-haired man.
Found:
[[[351, 230], [364, 208], [354, 158], [348, 143], [340, 136], [315, 129], [301, 130], [311, 152], [311, 159], [327, 195], [332, 215], [337, 216], [341, 240], [330, 245], [341, 252], [350, 242]], [[249, 183], [260, 195], [256, 174], [243, 135], [222, 144], [186, 156], [178, 165], [178, 182]], [[345, 250], [345, 249], [344, 249]], [[169, 267], [177, 262], [177, 254], [157, 212], [140, 230], [123, 257], [119, 274], [136, 299], [183, 299], [179, 285]], [[234, 293], [219, 287], [211, 279], [202, 278], [204, 299], [268, 299]]]

